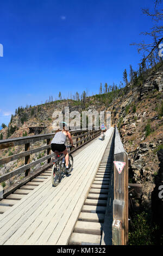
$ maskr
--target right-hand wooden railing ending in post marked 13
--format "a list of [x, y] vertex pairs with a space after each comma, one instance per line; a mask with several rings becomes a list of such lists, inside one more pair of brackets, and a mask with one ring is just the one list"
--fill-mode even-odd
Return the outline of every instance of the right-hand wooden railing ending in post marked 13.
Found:
[[[126, 163], [122, 172], [114, 164], [114, 201], [112, 244], [128, 244], [128, 154], [123, 148], [120, 133], [115, 127], [114, 161]], [[123, 166], [121, 164], [121, 166]]]

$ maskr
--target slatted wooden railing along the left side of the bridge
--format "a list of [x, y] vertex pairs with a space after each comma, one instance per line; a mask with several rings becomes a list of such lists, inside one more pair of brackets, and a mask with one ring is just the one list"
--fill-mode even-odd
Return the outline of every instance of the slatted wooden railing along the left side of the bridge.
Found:
[[[87, 142], [91, 141], [93, 138], [97, 137], [101, 131], [100, 130], [73, 130], [70, 131], [73, 144], [76, 145], [76, 148], [74, 148], [71, 152], [77, 150], [78, 148], [82, 147]], [[4, 139], [0, 141], [0, 149], [6, 149], [10, 147], [15, 147], [16, 145], [24, 145], [24, 151], [19, 154], [11, 155], [4, 157], [0, 160], [0, 166], [5, 163], [9, 163], [11, 161], [20, 159], [24, 157], [24, 165], [11, 170], [8, 173], [5, 173], [0, 176], [0, 183], [3, 181], [6, 181], [10, 178], [13, 178], [15, 175], [25, 173], [25, 176], [27, 177], [30, 173], [30, 168], [36, 166], [36, 164], [39, 164], [43, 161], [47, 161], [47, 164], [44, 165], [42, 168], [40, 167], [40, 170], [47, 169], [50, 166], [52, 166], [51, 157], [54, 156], [54, 153], [51, 153], [51, 140], [54, 137], [55, 133], [49, 133], [46, 135], [36, 135], [36, 136], [28, 136], [28, 137], [21, 137], [21, 138], [12, 138], [12, 139]], [[39, 148], [30, 149], [30, 143], [35, 143], [39, 141], [46, 140], [46, 145], [43, 145]], [[30, 162], [30, 155], [40, 152], [42, 150], [47, 150], [47, 155], [41, 157], [40, 159], [37, 159], [33, 162]], [[28, 180], [28, 179], [27, 179]]]

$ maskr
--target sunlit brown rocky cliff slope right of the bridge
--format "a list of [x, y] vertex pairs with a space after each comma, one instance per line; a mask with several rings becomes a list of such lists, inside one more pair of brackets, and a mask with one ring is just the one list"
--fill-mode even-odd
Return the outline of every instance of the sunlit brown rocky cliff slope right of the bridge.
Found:
[[139, 88], [129, 88], [127, 94], [111, 108], [131, 159], [130, 182], [142, 184], [141, 205], [151, 205], [151, 194], [158, 175], [157, 151], [163, 148], [163, 68], [153, 72]]

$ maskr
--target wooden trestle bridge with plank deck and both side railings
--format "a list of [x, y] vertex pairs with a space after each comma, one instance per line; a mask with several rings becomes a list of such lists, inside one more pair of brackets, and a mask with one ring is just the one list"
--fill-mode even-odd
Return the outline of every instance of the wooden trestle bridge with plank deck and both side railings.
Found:
[[[54, 134], [0, 141], [0, 149], [25, 149], [0, 160], [2, 166], [24, 158], [23, 166], [0, 176], [1, 183], [24, 174], [1, 194], [1, 245], [127, 245], [128, 154], [116, 127], [106, 131], [104, 141], [100, 133], [71, 131], [73, 170], [57, 187], [51, 182]], [[32, 148], [39, 141], [46, 144]], [[32, 161], [40, 151], [46, 155]], [[122, 172], [114, 161], [126, 163]]]

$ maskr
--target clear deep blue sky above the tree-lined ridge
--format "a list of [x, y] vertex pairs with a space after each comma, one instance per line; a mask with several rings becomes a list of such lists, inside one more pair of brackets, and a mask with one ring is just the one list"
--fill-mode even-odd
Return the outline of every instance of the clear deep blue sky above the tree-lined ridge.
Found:
[[141, 8], [154, 0], [0, 0], [0, 124], [18, 106], [45, 103], [100, 83], [119, 84], [137, 69], [132, 42], [149, 40], [153, 23]]

